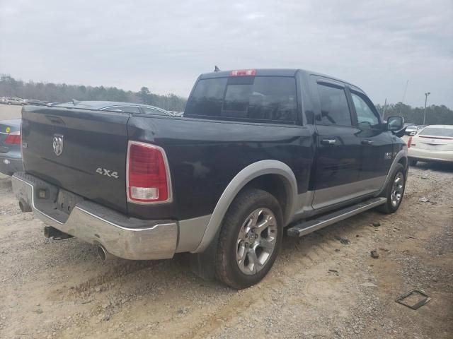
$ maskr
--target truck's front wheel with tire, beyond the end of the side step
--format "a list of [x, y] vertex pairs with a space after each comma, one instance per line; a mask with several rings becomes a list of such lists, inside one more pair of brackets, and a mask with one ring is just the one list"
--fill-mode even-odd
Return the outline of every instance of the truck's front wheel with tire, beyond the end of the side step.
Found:
[[[396, 182], [396, 179], [399, 181]], [[401, 184], [402, 179], [402, 184]], [[391, 174], [391, 180], [387, 184], [382, 196], [387, 198], [384, 205], [379, 206], [377, 209], [385, 214], [395, 213], [398, 210], [401, 202], [403, 201], [404, 189], [406, 188], [406, 169], [403, 165], [398, 164]]]

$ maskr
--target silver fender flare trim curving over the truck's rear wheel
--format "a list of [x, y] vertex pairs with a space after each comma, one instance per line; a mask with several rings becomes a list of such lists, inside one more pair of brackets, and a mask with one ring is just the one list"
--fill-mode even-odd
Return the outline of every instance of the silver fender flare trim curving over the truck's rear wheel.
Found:
[[297, 201], [297, 182], [294, 172], [292, 172], [292, 169], [289, 168], [288, 165], [278, 160], [260, 160], [258, 162], [253, 162], [253, 164], [248, 165], [242, 169], [241, 172], [236, 174], [236, 177], [234, 177], [231, 182], [229, 182], [228, 186], [226, 186], [226, 189], [223, 191], [222, 196], [220, 196], [219, 201], [217, 201], [217, 205], [212, 212], [205, 234], [203, 234], [200, 244], [193, 253], [204, 251], [212, 242], [215, 234], [217, 234], [217, 231], [222, 225], [226, 210], [228, 210], [239, 191], [241, 191], [246, 184], [251, 182], [251, 180], [265, 174], [277, 174], [282, 177], [283, 182], [285, 183], [285, 190], [289, 192], [287, 196], [286, 213], [283, 217], [285, 219], [285, 225], [289, 222], [292, 215], [294, 215], [295, 203]]

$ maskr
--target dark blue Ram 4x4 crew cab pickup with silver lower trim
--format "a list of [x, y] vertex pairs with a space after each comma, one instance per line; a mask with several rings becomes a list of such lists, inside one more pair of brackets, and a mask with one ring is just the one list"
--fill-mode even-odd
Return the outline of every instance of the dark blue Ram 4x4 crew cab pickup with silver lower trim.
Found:
[[172, 258], [234, 288], [301, 237], [403, 198], [407, 148], [355, 85], [300, 69], [202, 74], [183, 117], [25, 106], [23, 211], [101, 258]]

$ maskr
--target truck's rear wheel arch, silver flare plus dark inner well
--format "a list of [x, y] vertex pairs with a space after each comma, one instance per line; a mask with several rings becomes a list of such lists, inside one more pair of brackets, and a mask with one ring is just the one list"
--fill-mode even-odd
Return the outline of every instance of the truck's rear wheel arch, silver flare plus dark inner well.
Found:
[[[279, 184], [283, 184], [283, 186], [281, 187]], [[236, 177], [224, 189], [212, 212], [205, 234], [203, 234], [202, 240], [194, 253], [202, 252], [209, 246], [221, 227], [224, 215], [234, 198], [248, 186], [260, 188], [275, 195], [280, 206], [282, 206], [285, 225], [291, 220], [297, 201], [297, 182], [294, 172], [288, 165], [278, 160], [253, 162], [236, 174]]]

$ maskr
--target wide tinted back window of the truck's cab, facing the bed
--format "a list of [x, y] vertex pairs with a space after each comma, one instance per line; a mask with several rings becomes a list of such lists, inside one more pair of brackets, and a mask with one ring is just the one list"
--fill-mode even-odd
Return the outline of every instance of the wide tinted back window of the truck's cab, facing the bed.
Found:
[[194, 115], [295, 121], [296, 79], [284, 76], [202, 79], [185, 109], [185, 116]]

